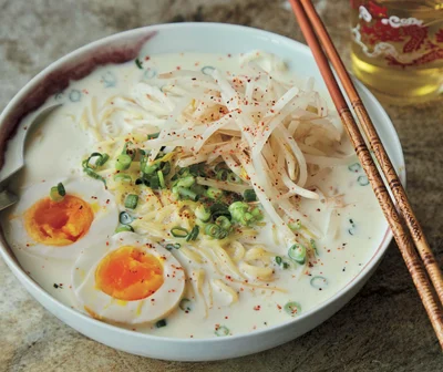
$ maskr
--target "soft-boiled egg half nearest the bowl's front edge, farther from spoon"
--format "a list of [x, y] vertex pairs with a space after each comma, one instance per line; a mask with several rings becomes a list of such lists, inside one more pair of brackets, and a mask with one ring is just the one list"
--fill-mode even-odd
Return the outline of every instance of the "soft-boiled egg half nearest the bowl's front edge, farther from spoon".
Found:
[[84, 250], [72, 271], [79, 307], [100, 320], [140, 324], [172, 312], [185, 289], [185, 271], [161, 245], [120, 232]]

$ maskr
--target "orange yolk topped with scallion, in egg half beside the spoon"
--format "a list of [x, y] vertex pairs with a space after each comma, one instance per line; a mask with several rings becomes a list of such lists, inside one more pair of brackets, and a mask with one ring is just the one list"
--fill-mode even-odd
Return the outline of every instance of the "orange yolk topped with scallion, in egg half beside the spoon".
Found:
[[68, 246], [81, 239], [94, 219], [91, 206], [65, 195], [60, 202], [47, 197], [24, 214], [24, 228], [32, 239], [48, 246]]

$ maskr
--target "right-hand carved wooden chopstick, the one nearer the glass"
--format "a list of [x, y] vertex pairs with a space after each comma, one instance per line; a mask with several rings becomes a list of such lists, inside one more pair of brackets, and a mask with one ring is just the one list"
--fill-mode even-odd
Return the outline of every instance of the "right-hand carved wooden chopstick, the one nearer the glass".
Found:
[[427, 275], [430, 276], [439, 299], [443, 304], [442, 270], [440, 269], [439, 264], [435, 260], [434, 254], [427, 245], [426, 238], [423, 234], [423, 229], [420, 226], [420, 223], [416, 219], [414, 211], [412, 210], [411, 204], [409, 203], [406, 193], [404, 192], [404, 188], [396, 175], [395, 168], [393, 167], [391, 159], [387, 154], [387, 151], [381, 144], [375, 127], [372, 124], [371, 118], [369, 117], [369, 114], [360, 99], [359, 93], [356, 90], [356, 86], [351, 81], [351, 78], [349, 76], [347, 69], [344, 68], [343, 61], [341, 61], [339, 53], [337, 52], [337, 49], [333, 45], [332, 40], [324, 28], [323, 22], [321, 21], [319, 14], [312, 6], [312, 2], [309, 0], [300, 0], [300, 2], [301, 6], [305, 8], [306, 14], [308, 16], [313, 29], [316, 30], [318, 38], [321, 41], [326, 54], [328, 55], [332, 66], [336, 69], [337, 75], [339, 76], [344, 91], [347, 92], [357, 118], [359, 120], [359, 123], [364, 131], [369, 144], [375, 155], [375, 158], [379, 162], [381, 169], [383, 170], [388, 185], [392, 190], [392, 195], [395, 198], [399, 209], [402, 213], [409, 231], [412, 236], [412, 240], [414, 241], [416, 249], [419, 250]]

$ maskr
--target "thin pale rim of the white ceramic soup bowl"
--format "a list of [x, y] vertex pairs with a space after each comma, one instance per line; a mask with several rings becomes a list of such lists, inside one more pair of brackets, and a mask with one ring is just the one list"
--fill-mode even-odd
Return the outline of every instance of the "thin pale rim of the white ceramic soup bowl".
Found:
[[[2, 113], [0, 115], [0, 127], [2, 126], [3, 121], [8, 117], [10, 112], [13, 112], [16, 105], [23, 99], [23, 96], [27, 95], [27, 93], [33, 86], [39, 84], [39, 82], [41, 81], [41, 79], [43, 76], [45, 76], [49, 72], [56, 69], [58, 66], [63, 65], [64, 63], [69, 62], [72, 59], [75, 59], [78, 55], [81, 55], [85, 51], [96, 49], [103, 44], [115, 42], [116, 40], [119, 40], [121, 38], [125, 38], [125, 37], [127, 37], [130, 39], [132, 37], [135, 38], [138, 33], [142, 33], [142, 32], [148, 33], [148, 32], [156, 32], [156, 31], [168, 30], [168, 29], [182, 29], [182, 28], [197, 28], [197, 29], [198, 28], [200, 28], [200, 29], [206, 29], [206, 28], [217, 29], [218, 28], [218, 29], [220, 29], [222, 32], [225, 29], [234, 29], [234, 30], [237, 29], [239, 32], [249, 33], [253, 38], [257, 37], [257, 35], [258, 37], [261, 35], [266, 39], [272, 39], [272, 40], [277, 41], [278, 43], [292, 44], [292, 45], [296, 44], [298, 48], [300, 48], [300, 50], [303, 53], [310, 54], [309, 46], [305, 45], [303, 43], [301, 43], [297, 40], [293, 40], [293, 39], [274, 33], [274, 32], [265, 31], [261, 29], [246, 27], [246, 25], [230, 24], [230, 23], [217, 23], [217, 22], [162, 23], [162, 24], [152, 24], [152, 25], [147, 25], [147, 27], [142, 27], [142, 28], [137, 28], [137, 29], [131, 29], [131, 30], [126, 30], [123, 32], [116, 32], [114, 34], [111, 34], [111, 35], [102, 38], [100, 40], [90, 42], [81, 48], [75, 49], [74, 51], [72, 51], [72, 52], [63, 55], [62, 58], [58, 59], [56, 61], [52, 62], [45, 69], [43, 69], [40, 73], [38, 73], [32, 80], [30, 80], [24, 86], [22, 86], [18, 91], [18, 93], [12, 97], [12, 100], [7, 104], [7, 106], [4, 107], [4, 110], [2, 111]], [[371, 105], [375, 106], [377, 112], [379, 115], [382, 116], [382, 120], [390, 124], [387, 126], [387, 130], [390, 132], [390, 136], [391, 136], [390, 141], [392, 143], [392, 147], [395, 148], [396, 151], [399, 151], [398, 155], [401, 161], [401, 168], [399, 170], [399, 177], [400, 177], [402, 184], [405, 185], [405, 168], [404, 168], [403, 149], [402, 149], [402, 146], [401, 146], [401, 143], [399, 140], [399, 135], [398, 135], [389, 115], [387, 114], [384, 108], [381, 106], [380, 102], [374, 97], [374, 95], [360, 81], [358, 81], [353, 76], [352, 76], [352, 80], [353, 80], [354, 84], [357, 85], [358, 90], [364, 93], [367, 101], [370, 101]], [[29, 114], [32, 114], [32, 113], [28, 113], [28, 115]], [[13, 134], [13, 135], [16, 135], [16, 134]], [[9, 141], [9, 138], [7, 138], [4, 141], [4, 144], [7, 144], [8, 141]], [[4, 146], [3, 151], [6, 151], [6, 146]], [[13, 255], [11, 248], [8, 247], [8, 242], [6, 241], [3, 234], [0, 234], [0, 235], [1, 235], [1, 240], [4, 241], [4, 244], [3, 244], [3, 241], [0, 241], [1, 257], [3, 258], [6, 264], [9, 266], [11, 271], [18, 277], [18, 279], [20, 279], [20, 281], [27, 282], [27, 285], [31, 286], [31, 288], [35, 292], [35, 296], [33, 296], [33, 293], [30, 293], [30, 294], [33, 296], [38, 302], [40, 302], [38, 300], [38, 298], [41, 297], [44, 300], [47, 300], [48, 302], [52, 302], [52, 304], [55, 308], [58, 308], [60, 311], [68, 313], [70, 317], [73, 317], [74, 319], [78, 319], [78, 321], [85, 322], [85, 323], [90, 324], [91, 327], [100, 328], [100, 331], [115, 332], [116, 334], [123, 333], [127, 337], [140, 339], [143, 341], [162, 340], [164, 342], [186, 343], [186, 344], [188, 344], [188, 343], [197, 344], [197, 343], [207, 343], [207, 342], [209, 342], [212, 344], [219, 344], [219, 343], [225, 343], [226, 341], [231, 341], [234, 339], [241, 340], [241, 339], [248, 339], [250, 337], [253, 337], [253, 338], [259, 337], [259, 335], [262, 337], [262, 335], [266, 335], [267, 333], [278, 331], [282, 328], [289, 327], [290, 324], [300, 322], [306, 318], [315, 316], [316, 313], [320, 312], [323, 308], [327, 308], [327, 307], [331, 306], [333, 302], [336, 302], [337, 300], [339, 300], [341, 297], [343, 297], [350, 290], [351, 287], [358, 285], [361, 280], [363, 280], [365, 278], [365, 276], [369, 272], [371, 272], [371, 270], [373, 270], [378, 264], [380, 264], [380, 261], [381, 261], [384, 252], [387, 251], [389, 244], [392, 239], [392, 231], [390, 230], [390, 228], [388, 226], [381, 241], [379, 242], [379, 247], [374, 250], [373, 255], [365, 262], [365, 265], [361, 267], [361, 270], [349, 282], [347, 282], [339, 291], [333, 293], [329, 299], [320, 302], [315, 308], [307, 310], [306, 312], [302, 312], [300, 316], [298, 316], [289, 321], [281, 322], [281, 323], [271, 326], [269, 328], [255, 330], [255, 331], [248, 332], [248, 333], [239, 333], [239, 334], [229, 335], [227, 338], [196, 338], [196, 339], [187, 338], [187, 339], [185, 339], [185, 338], [163, 337], [163, 335], [154, 335], [154, 334], [142, 333], [142, 332], [134, 332], [134, 331], [131, 331], [131, 330], [127, 330], [127, 329], [124, 329], [124, 328], [121, 328], [117, 326], [113, 326], [113, 324], [110, 324], [110, 323], [106, 323], [103, 321], [95, 320], [95, 319], [87, 317], [86, 314], [71, 308], [70, 306], [64, 304], [63, 302], [61, 302], [61, 301], [56, 300], [54, 297], [52, 297], [42, 287], [40, 287], [40, 285], [37, 281], [34, 281], [31, 277], [29, 277], [25, 273], [25, 271], [21, 268], [18, 259]], [[11, 254], [8, 254], [8, 250]], [[28, 292], [30, 292], [30, 291], [28, 291]], [[48, 311], [47, 308], [45, 308], [45, 311]]]

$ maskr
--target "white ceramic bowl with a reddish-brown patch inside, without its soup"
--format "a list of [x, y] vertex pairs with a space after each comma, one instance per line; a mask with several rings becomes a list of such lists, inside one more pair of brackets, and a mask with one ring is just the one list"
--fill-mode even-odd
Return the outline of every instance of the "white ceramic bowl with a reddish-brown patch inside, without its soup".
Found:
[[[298, 75], [315, 76], [317, 89], [326, 92], [321, 76], [307, 46], [293, 40], [238, 25], [217, 23], [179, 23], [152, 25], [119, 33], [93, 42], [52, 63], [30, 81], [10, 102], [0, 116], [0, 144], [4, 143], [20, 117], [37, 108], [43, 100], [68, 84], [69, 79], [87, 74], [97, 63], [123, 62], [143, 50], [150, 54], [169, 52], [240, 53], [260, 49], [289, 62]], [[388, 153], [404, 183], [401, 145], [392, 123], [380, 103], [361, 83], [356, 82]], [[2, 157], [3, 155], [1, 155]], [[79, 332], [130, 353], [177, 361], [208, 361], [259, 352], [288, 342], [331, 317], [342, 308], [374, 272], [391, 240], [388, 230], [382, 241], [374, 241], [373, 257], [361, 272], [328, 301], [290, 322], [254, 333], [216, 339], [173, 339], [136, 333], [89, 318], [53, 299], [20, 267], [3, 237], [1, 255], [27, 290], [51, 313]], [[23, 314], [25, 316], [25, 314]]]

